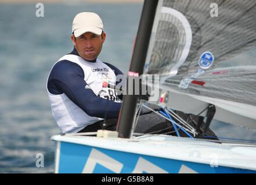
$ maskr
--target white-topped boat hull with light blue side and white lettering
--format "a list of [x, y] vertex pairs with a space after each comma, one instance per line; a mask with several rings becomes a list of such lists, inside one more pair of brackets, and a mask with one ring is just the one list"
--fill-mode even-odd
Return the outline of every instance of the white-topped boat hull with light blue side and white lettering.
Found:
[[255, 173], [256, 147], [193, 138], [55, 135], [56, 173]]

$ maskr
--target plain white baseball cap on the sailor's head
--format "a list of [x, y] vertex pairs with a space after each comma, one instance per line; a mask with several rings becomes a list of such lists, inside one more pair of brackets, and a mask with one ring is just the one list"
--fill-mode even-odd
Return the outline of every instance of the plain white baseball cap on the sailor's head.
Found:
[[72, 25], [72, 33], [78, 37], [86, 32], [101, 35], [103, 29], [102, 19], [93, 12], [78, 13]]

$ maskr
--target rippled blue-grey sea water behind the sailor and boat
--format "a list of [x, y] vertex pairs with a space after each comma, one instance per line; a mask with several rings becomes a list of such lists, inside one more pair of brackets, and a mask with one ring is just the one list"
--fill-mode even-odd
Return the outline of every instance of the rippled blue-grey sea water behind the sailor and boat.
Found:
[[[48, 4], [44, 17], [35, 16], [35, 3], [0, 4], [0, 173], [53, 173], [59, 134], [46, 94], [52, 65], [70, 53], [75, 14], [96, 12], [107, 34], [99, 59], [127, 73], [142, 4]], [[256, 140], [255, 132], [219, 122], [221, 136]], [[238, 134], [237, 134], [238, 133]], [[36, 155], [44, 155], [37, 168]]]

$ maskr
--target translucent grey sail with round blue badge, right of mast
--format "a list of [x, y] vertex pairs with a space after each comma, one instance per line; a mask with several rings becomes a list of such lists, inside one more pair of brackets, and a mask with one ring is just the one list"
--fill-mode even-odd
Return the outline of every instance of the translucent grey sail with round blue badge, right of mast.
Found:
[[241, 116], [255, 119], [255, 46], [255, 0], [163, 0], [144, 73], [160, 75], [162, 89], [233, 102], [221, 105], [233, 113], [242, 103], [250, 113]]

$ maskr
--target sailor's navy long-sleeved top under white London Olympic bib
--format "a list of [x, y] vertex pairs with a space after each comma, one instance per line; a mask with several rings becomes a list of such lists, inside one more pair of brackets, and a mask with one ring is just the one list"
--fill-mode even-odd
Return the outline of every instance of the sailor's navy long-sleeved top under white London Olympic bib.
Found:
[[86, 61], [74, 49], [53, 65], [47, 80], [52, 114], [62, 133], [74, 133], [103, 119], [118, 117], [121, 100], [103, 83], [116, 85], [122, 72], [98, 59]]

